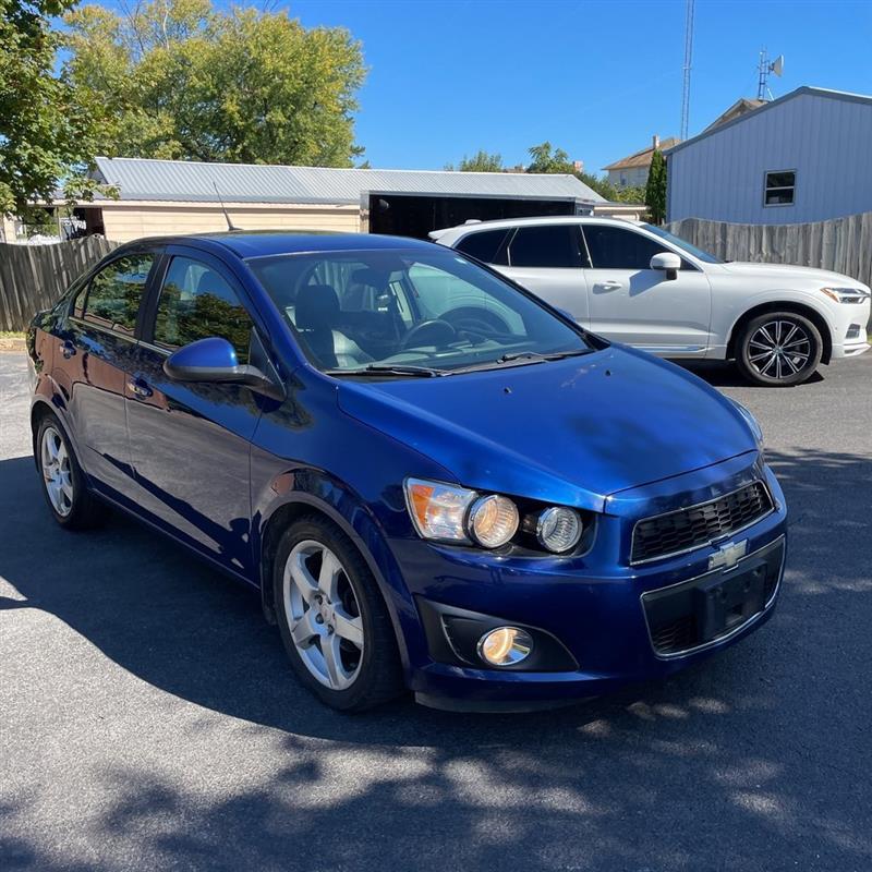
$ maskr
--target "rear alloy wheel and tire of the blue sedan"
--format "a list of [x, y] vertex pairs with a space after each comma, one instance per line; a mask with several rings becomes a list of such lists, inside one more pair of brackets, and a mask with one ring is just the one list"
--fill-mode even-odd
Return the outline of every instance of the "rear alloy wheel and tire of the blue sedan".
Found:
[[43, 494], [55, 520], [69, 530], [96, 526], [104, 518], [105, 507], [88, 491], [70, 440], [51, 413], [39, 423], [36, 451]]

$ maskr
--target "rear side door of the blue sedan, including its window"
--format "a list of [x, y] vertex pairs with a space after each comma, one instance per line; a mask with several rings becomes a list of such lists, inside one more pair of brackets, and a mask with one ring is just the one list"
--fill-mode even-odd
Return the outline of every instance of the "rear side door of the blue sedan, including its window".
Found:
[[55, 354], [53, 376], [68, 396], [82, 467], [95, 487], [116, 499], [134, 488], [124, 391], [157, 261], [155, 250], [144, 249], [104, 264], [76, 293]]

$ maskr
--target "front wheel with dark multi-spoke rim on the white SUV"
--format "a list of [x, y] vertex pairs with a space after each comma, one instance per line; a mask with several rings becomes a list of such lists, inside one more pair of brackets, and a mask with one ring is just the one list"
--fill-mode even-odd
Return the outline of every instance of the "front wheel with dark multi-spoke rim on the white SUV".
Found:
[[755, 385], [790, 387], [806, 382], [821, 363], [820, 330], [796, 312], [751, 318], [736, 342], [736, 365]]

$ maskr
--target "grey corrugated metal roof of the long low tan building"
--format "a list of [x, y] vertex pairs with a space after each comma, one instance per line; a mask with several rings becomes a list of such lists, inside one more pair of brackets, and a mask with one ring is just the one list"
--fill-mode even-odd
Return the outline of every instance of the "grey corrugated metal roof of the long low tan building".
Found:
[[358, 170], [145, 158], [96, 159], [122, 201], [354, 204], [361, 193], [577, 199], [605, 203], [574, 175], [522, 172]]

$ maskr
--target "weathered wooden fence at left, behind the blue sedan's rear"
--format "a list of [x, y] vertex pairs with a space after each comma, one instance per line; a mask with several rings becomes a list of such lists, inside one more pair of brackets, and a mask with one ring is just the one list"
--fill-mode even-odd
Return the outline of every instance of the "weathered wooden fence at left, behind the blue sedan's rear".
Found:
[[76, 276], [117, 245], [102, 237], [56, 245], [0, 243], [0, 330], [24, 330], [36, 312], [50, 308]]

